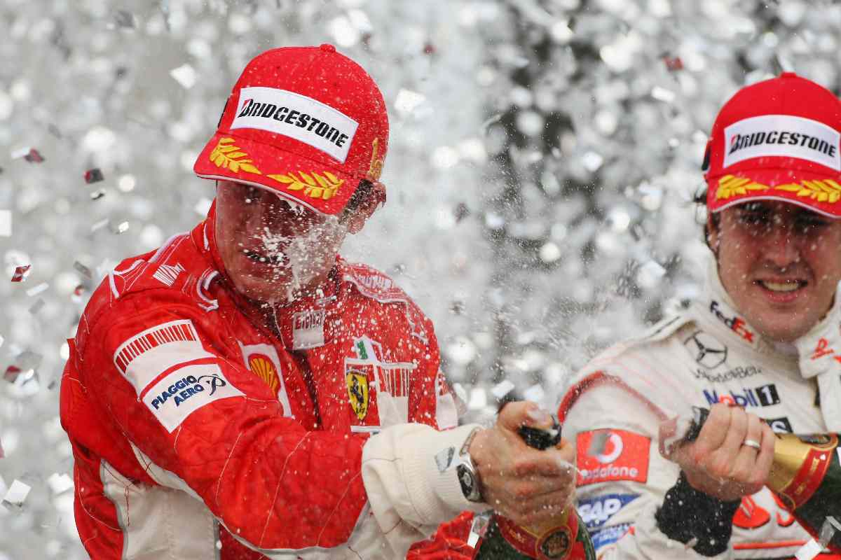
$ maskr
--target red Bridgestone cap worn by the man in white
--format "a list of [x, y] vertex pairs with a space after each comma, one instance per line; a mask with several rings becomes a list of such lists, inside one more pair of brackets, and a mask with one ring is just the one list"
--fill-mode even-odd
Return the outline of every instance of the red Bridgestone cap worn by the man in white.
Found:
[[743, 87], [722, 107], [706, 145], [707, 208], [793, 202], [841, 217], [841, 102], [784, 72]]

